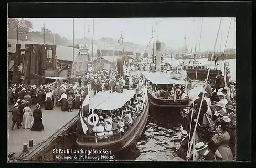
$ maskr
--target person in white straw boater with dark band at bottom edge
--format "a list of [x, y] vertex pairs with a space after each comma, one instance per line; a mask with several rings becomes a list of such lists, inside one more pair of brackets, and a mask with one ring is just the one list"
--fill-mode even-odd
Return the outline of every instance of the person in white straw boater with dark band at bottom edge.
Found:
[[212, 154], [207, 147], [208, 145], [204, 144], [204, 142], [199, 142], [195, 145], [195, 150], [200, 155], [202, 161], [216, 160], [214, 154]]

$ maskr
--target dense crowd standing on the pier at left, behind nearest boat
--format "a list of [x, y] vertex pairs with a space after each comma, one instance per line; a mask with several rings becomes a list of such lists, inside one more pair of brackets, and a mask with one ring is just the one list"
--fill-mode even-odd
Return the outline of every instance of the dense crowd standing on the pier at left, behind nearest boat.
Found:
[[[15, 124], [17, 124], [17, 129], [21, 126], [24, 129], [31, 128], [32, 121], [36, 121], [34, 117], [39, 115], [38, 113], [42, 120], [42, 112], [38, 112], [38, 108], [53, 110], [60, 106], [64, 112], [79, 109], [86, 94], [86, 87], [89, 85], [96, 94], [99, 91], [122, 92], [124, 88], [137, 88], [141, 82], [142, 79], [138, 75], [120, 76], [112, 68], [84, 73], [83, 77], [78, 78], [78, 84], [70, 84], [68, 81], [39, 85], [11, 84], [8, 86], [8, 104], [15, 104], [12, 110], [12, 130]], [[36, 104], [33, 114], [30, 108], [32, 104]]]

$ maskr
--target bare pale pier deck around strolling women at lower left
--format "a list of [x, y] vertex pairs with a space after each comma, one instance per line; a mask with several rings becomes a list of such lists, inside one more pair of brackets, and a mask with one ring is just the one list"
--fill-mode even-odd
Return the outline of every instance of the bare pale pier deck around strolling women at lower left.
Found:
[[[14, 108], [13, 105], [9, 105], [8, 111]], [[35, 109], [35, 105], [31, 106], [31, 111]], [[42, 123], [45, 130], [43, 131], [31, 131], [30, 129], [17, 129], [16, 125], [14, 130], [11, 130], [12, 126], [12, 112], [8, 112], [8, 153], [20, 153], [23, 150], [23, 143], [28, 143], [29, 139], [33, 139], [34, 145], [47, 140], [50, 136], [56, 133], [61, 127], [70, 122], [77, 114], [78, 110], [73, 109], [73, 112], [61, 111], [60, 107], [54, 107], [53, 110], [42, 110]]]

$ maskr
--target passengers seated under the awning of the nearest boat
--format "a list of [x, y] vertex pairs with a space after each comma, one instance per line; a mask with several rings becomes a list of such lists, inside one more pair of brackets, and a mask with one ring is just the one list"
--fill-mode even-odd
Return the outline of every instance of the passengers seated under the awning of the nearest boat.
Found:
[[[93, 126], [89, 124], [91, 112], [84, 115], [84, 121], [88, 127], [86, 134], [96, 135], [99, 139], [103, 139], [108, 137], [106, 135], [124, 132], [124, 126], [129, 127], [130, 124], [134, 122], [134, 119], [137, 118], [138, 114], [143, 112], [145, 105], [146, 102], [142, 97], [134, 95], [134, 98], [127, 101], [121, 108], [111, 111], [94, 109], [93, 113], [97, 114], [99, 120], [98, 123]], [[78, 122], [77, 129], [79, 134], [84, 134], [81, 121]]]

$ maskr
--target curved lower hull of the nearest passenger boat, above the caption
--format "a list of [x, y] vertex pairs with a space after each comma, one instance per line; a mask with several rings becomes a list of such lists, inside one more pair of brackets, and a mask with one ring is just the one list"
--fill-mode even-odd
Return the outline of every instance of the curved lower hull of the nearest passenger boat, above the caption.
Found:
[[131, 129], [129, 132], [126, 133], [126, 135], [123, 135], [120, 137], [120, 139], [110, 142], [98, 142], [98, 143], [92, 143], [92, 142], [81, 142], [79, 138], [77, 139], [76, 143], [78, 148], [85, 149], [85, 150], [110, 150], [111, 152], [117, 152], [121, 151], [136, 142], [136, 140], [141, 136], [141, 134], [144, 131], [144, 128], [146, 126], [147, 118], [148, 118], [148, 108], [150, 103], [147, 102], [145, 111], [141, 113], [139, 117], [139, 121], [134, 125], [131, 126]]

